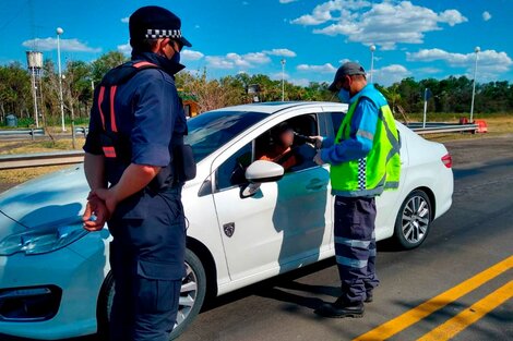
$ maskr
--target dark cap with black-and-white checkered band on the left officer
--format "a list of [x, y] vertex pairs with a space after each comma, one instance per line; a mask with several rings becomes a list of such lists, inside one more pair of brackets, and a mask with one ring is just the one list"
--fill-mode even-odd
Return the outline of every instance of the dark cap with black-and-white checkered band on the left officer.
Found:
[[172, 12], [157, 7], [140, 8], [129, 20], [130, 39], [171, 38], [183, 46], [192, 45], [181, 35], [181, 21]]

